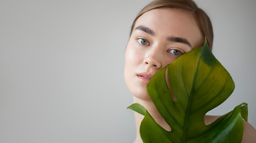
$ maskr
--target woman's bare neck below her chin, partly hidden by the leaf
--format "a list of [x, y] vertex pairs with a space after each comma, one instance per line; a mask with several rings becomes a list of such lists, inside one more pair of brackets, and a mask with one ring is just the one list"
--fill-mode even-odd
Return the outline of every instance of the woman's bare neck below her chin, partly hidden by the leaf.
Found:
[[[166, 123], [164, 118], [160, 115], [160, 113], [157, 111], [157, 108], [155, 107], [155, 104], [150, 101], [141, 100], [139, 98], [133, 97], [133, 103], [139, 103], [142, 106], [146, 108], [148, 113], [153, 117], [153, 119], [159, 124], [162, 128], [164, 128], [167, 131], [171, 131], [171, 127]], [[141, 124], [141, 121], [143, 120], [144, 115], [141, 115], [137, 112], [135, 112], [135, 123], [136, 123], [136, 130], [137, 135], [134, 143], [142, 143], [140, 133], [139, 133], [139, 127]]]

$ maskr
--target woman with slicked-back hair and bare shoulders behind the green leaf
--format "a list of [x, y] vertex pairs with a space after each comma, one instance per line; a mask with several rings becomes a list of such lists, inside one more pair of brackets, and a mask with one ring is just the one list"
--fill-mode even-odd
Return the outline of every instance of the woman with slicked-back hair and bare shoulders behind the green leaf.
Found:
[[[134, 95], [134, 103], [144, 106], [165, 130], [171, 130], [150, 99], [146, 84], [160, 69], [182, 54], [204, 44], [207, 37], [212, 48], [211, 21], [192, 0], [154, 0], [135, 18], [126, 47], [125, 82]], [[137, 137], [141, 143], [139, 126], [144, 118], [135, 113]], [[218, 116], [205, 116], [211, 124]], [[256, 142], [256, 130], [244, 121], [243, 143]]]

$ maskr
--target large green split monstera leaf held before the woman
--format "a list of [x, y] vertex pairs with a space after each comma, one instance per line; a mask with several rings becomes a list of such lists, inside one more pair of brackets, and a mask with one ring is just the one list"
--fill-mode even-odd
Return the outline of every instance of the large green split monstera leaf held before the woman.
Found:
[[161, 69], [146, 86], [157, 110], [171, 127], [159, 126], [140, 104], [128, 108], [144, 115], [140, 134], [144, 143], [240, 143], [247, 104], [204, 124], [204, 115], [234, 91], [227, 70], [213, 56], [207, 41]]

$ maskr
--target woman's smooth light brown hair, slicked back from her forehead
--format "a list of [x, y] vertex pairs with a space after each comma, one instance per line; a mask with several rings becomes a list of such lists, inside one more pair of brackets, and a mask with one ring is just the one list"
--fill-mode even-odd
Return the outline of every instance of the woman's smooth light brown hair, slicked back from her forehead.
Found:
[[[153, 0], [139, 12], [137, 17], [133, 21], [130, 35], [132, 34], [137, 19], [147, 11], [157, 8], [182, 9], [191, 13], [195, 19], [195, 22], [197, 22], [202, 34], [207, 37], [209, 48], [212, 49], [213, 28], [211, 25], [211, 20], [202, 9], [198, 8], [193, 0]], [[204, 40], [204, 37], [202, 40]]]

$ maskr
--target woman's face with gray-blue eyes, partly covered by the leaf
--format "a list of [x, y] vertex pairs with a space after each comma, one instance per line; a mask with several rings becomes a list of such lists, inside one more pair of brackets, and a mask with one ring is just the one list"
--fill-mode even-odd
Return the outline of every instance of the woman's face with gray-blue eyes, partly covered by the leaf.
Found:
[[124, 78], [130, 92], [150, 101], [146, 84], [161, 68], [204, 43], [191, 14], [153, 9], [141, 15], [126, 47]]

